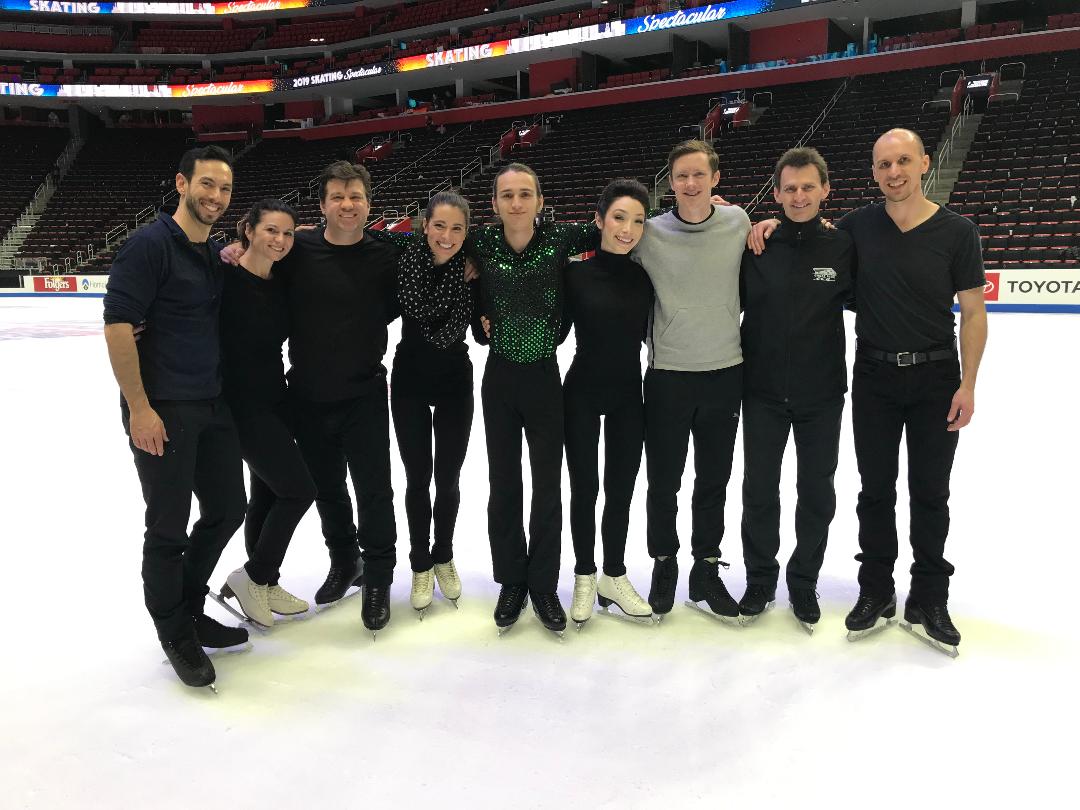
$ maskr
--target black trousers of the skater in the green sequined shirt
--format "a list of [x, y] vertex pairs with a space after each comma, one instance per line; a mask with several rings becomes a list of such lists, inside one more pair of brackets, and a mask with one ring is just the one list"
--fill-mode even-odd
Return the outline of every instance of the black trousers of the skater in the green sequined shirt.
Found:
[[[563, 534], [563, 383], [555, 357], [513, 363], [488, 354], [481, 386], [487, 438], [487, 531], [495, 581], [554, 593]], [[525, 540], [522, 433], [532, 507]]]

